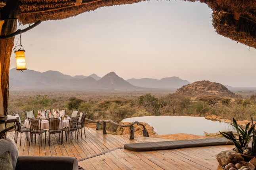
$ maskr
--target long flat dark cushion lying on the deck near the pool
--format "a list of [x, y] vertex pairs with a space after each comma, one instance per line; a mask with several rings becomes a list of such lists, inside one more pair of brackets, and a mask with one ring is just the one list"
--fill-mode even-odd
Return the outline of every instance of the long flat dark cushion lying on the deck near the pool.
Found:
[[179, 149], [186, 147], [216, 146], [216, 145], [233, 145], [233, 142], [226, 138], [209, 138], [194, 140], [173, 140], [163, 142], [146, 142], [125, 144], [124, 149], [131, 151], [155, 151], [164, 149]]

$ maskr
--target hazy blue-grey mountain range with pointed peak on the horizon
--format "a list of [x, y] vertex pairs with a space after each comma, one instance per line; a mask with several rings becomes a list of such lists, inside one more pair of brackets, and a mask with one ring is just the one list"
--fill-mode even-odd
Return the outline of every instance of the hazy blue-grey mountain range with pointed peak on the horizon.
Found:
[[177, 89], [188, 84], [179, 77], [158, 79], [128, 79], [125, 81], [110, 72], [102, 78], [96, 74], [90, 76], [69, 76], [58, 71], [37, 72], [25, 70], [22, 73], [15, 68], [10, 70], [10, 89]]

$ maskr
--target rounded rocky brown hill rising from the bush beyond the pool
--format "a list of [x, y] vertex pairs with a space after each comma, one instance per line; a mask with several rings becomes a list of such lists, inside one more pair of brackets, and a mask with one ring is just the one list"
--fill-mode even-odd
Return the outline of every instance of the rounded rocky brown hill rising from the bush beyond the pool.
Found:
[[210, 82], [207, 80], [196, 81], [194, 83], [183, 85], [176, 91], [178, 94], [183, 94], [191, 97], [203, 96], [203, 95], [218, 95], [225, 97], [235, 97], [235, 93], [232, 93], [224, 85], [216, 82]]

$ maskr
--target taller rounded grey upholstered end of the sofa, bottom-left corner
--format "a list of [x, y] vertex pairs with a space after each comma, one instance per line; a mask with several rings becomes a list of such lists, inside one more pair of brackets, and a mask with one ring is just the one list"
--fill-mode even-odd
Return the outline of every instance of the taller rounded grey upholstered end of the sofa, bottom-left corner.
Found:
[[6, 151], [10, 151], [11, 153], [11, 164], [13, 166], [13, 169], [15, 170], [19, 151], [10, 139], [0, 139], [0, 155], [5, 153]]

